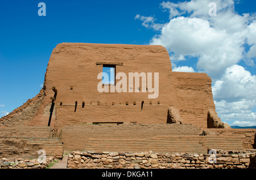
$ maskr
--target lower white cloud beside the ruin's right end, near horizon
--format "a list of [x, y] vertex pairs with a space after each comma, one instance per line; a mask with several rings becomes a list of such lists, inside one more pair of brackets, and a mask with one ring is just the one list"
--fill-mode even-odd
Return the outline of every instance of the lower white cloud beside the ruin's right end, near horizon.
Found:
[[221, 79], [212, 87], [217, 112], [226, 121], [242, 121], [255, 123], [253, 112], [256, 106], [256, 76], [239, 65], [225, 70]]

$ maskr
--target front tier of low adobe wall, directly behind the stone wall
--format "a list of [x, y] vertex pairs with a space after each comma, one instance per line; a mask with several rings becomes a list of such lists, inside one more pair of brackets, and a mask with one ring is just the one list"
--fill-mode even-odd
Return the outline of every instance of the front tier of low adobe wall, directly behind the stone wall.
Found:
[[[81, 142], [76, 142], [80, 144]], [[81, 147], [81, 145], [83, 145]], [[208, 148], [242, 151], [242, 141], [232, 136], [156, 136], [148, 139], [89, 138], [77, 150], [153, 151], [160, 153], [206, 153]]]

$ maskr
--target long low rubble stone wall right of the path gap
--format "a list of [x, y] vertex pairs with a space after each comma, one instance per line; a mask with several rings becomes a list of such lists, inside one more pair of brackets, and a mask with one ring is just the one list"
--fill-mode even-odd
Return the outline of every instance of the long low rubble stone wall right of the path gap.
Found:
[[67, 168], [85, 169], [256, 169], [256, 152], [214, 151], [213, 155], [152, 152], [69, 153]]

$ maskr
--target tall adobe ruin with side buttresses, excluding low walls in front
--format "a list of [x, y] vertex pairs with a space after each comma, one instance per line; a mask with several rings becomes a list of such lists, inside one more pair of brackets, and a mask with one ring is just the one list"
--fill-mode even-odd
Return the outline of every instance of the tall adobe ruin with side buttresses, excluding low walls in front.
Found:
[[[127, 76], [127, 92], [98, 91], [101, 82], [98, 74], [105, 65], [114, 66], [115, 75], [123, 72]], [[135, 84], [133, 79], [133, 85], [129, 84], [129, 72], [152, 73], [152, 87], [155, 86], [154, 73], [158, 73], [157, 98], [148, 97], [156, 93], [148, 92], [152, 90], [148, 85], [147, 91], [142, 92], [142, 83]], [[121, 80], [125, 82], [123, 77]], [[142, 82], [142, 78], [139, 80]], [[148, 78], [146, 80], [148, 82]], [[119, 79], [115, 83], [119, 83]], [[100, 84], [100, 87], [105, 86]], [[209, 76], [172, 72], [170, 57], [163, 46], [83, 43], [57, 45], [39, 95], [0, 121], [3, 125], [51, 126], [55, 130], [88, 122], [227, 127], [217, 117]]]

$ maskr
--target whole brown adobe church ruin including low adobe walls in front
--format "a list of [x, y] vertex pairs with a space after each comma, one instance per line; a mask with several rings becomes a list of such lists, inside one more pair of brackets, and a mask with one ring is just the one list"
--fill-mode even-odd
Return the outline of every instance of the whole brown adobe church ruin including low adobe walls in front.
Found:
[[[127, 83], [139, 92], [99, 92], [102, 67], [112, 67], [115, 75], [158, 72], [158, 97], [148, 98], [150, 89], [142, 92], [141, 84]], [[207, 153], [209, 148], [255, 148], [256, 130], [235, 130], [218, 118], [211, 82], [207, 74], [172, 72], [163, 46], [59, 44], [40, 93], [0, 119], [0, 144], [12, 144], [0, 155], [35, 155], [40, 148], [58, 157], [63, 150]], [[36, 146], [38, 140], [43, 143]], [[57, 147], [49, 145], [52, 141]], [[17, 152], [17, 147], [23, 150]]]

